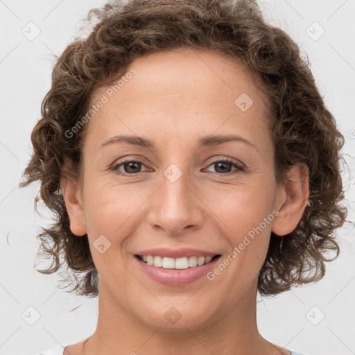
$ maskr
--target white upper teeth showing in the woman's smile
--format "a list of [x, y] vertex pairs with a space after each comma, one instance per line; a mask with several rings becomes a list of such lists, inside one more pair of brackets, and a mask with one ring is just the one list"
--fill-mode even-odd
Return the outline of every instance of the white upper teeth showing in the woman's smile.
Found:
[[213, 257], [182, 257], [182, 258], [168, 258], [168, 257], [153, 257], [152, 255], [139, 255], [139, 258], [148, 265], [156, 266], [164, 269], [187, 269], [201, 266], [209, 263]]

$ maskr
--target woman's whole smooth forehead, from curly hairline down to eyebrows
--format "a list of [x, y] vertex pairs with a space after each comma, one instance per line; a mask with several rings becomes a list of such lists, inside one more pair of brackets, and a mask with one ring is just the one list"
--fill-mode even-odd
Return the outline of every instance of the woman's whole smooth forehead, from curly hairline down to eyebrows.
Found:
[[128, 71], [132, 68], [135, 74], [123, 85], [101, 87], [92, 98], [92, 103], [107, 98], [89, 122], [87, 135], [96, 145], [122, 130], [183, 135], [207, 127], [205, 133], [211, 134], [218, 125], [225, 130], [248, 125], [257, 131], [261, 122], [267, 129], [267, 100], [258, 79], [232, 58], [175, 49], [138, 58]]

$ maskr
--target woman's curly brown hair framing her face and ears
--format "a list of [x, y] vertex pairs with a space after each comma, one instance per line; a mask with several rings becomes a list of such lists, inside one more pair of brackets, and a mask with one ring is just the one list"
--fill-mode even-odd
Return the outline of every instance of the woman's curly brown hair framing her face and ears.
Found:
[[[272, 117], [277, 184], [285, 181], [293, 164], [309, 167], [311, 204], [293, 232], [284, 238], [271, 232], [259, 273], [259, 293], [276, 295], [322, 279], [324, 262], [334, 260], [340, 251], [334, 230], [347, 216], [347, 209], [340, 205], [344, 137], [324, 106], [309, 62], [297, 44], [280, 28], [267, 24], [257, 2], [251, 0], [113, 1], [90, 10], [87, 26], [89, 35], [76, 37], [53, 68], [42, 118], [31, 135], [34, 151], [24, 171], [26, 180], [20, 184], [25, 187], [40, 180], [40, 198], [55, 214], [55, 223], [37, 236], [37, 255], [51, 259], [51, 266], [38, 271], [52, 273], [65, 265], [64, 281], [73, 286], [70, 292], [87, 297], [98, 294], [87, 234], [78, 237], [71, 232], [60, 185], [69, 175], [82, 181], [81, 148], [88, 124], [73, 137], [66, 132], [83, 119], [96, 90], [121, 78], [133, 60], [186, 47], [233, 58], [261, 80]], [[64, 163], [69, 164], [68, 171]], [[36, 211], [37, 201], [38, 197]], [[326, 257], [330, 251], [336, 252], [333, 259]]]

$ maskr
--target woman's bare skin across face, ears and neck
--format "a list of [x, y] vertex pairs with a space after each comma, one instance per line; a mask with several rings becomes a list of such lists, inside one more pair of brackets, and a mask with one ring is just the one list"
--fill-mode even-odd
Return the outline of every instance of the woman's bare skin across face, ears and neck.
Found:
[[[259, 334], [257, 277], [270, 232], [288, 234], [302, 217], [308, 168], [293, 166], [290, 181], [277, 186], [267, 100], [231, 59], [180, 49], [131, 67], [137, 73], [89, 121], [83, 193], [76, 181], [62, 180], [71, 231], [87, 233], [99, 274], [96, 331], [64, 354], [289, 354]], [[234, 104], [242, 93], [254, 101], [245, 112]], [[239, 135], [256, 148], [241, 141], [198, 148], [198, 139], [211, 134]], [[115, 135], [148, 137], [156, 148], [124, 142], [100, 148]], [[110, 170], [128, 157], [143, 160], [139, 173], [123, 165]], [[218, 170], [214, 163], [226, 157], [247, 170], [228, 163], [225, 173]], [[175, 182], [164, 176], [171, 164], [182, 172]], [[223, 260], [273, 210], [278, 216], [212, 281], [157, 284], [133, 258], [163, 246], [202, 248]], [[103, 254], [93, 246], [101, 234], [111, 243]], [[175, 324], [164, 317], [172, 306], [182, 315]]]

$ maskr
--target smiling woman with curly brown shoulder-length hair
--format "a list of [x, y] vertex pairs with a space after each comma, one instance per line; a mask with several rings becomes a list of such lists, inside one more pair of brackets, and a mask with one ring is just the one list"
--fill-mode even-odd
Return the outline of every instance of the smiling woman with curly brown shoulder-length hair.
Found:
[[44, 354], [299, 354], [259, 334], [257, 291], [321, 279], [346, 209], [343, 135], [297, 45], [254, 1], [116, 1], [89, 19], [22, 186], [40, 180], [57, 216], [44, 272], [64, 257], [98, 324]]

